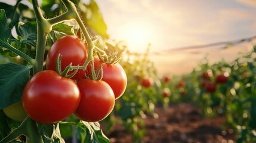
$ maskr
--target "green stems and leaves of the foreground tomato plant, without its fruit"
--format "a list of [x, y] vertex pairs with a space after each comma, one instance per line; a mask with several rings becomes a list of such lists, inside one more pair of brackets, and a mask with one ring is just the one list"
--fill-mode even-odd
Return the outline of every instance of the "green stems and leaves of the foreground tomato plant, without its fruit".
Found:
[[[41, 8], [37, 0], [32, 0], [34, 18], [27, 18], [28, 21], [25, 20], [25, 23], [23, 23], [23, 21], [19, 21], [20, 18], [16, 19], [16, 16], [18, 15], [20, 17], [24, 17], [24, 15], [21, 13], [26, 10], [29, 11], [30, 14], [32, 13], [29, 7], [21, 4], [20, 2], [21, 1], [18, 0], [14, 7], [2, 2], [1, 4], [3, 7], [0, 7], [0, 29], [2, 29], [4, 32], [4, 35], [0, 36], [1, 57], [7, 56], [9, 58], [18, 56], [26, 61], [23, 64], [0, 64], [0, 91], [2, 93], [5, 93], [0, 98], [0, 121], [4, 123], [6, 122], [6, 120], [10, 120], [11, 122], [16, 123], [15, 128], [10, 128], [10, 125], [7, 124], [4, 125], [4, 128], [0, 129], [2, 135], [0, 136], [0, 142], [9, 142], [13, 139], [21, 139], [21, 141], [25, 142], [64, 142], [63, 138], [61, 138], [60, 135], [58, 122], [50, 122], [50, 124], [44, 124], [44, 122], [39, 123], [31, 119], [31, 115], [29, 115], [29, 117], [26, 117], [23, 122], [16, 122], [8, 119], [7, 116], [5, 116], [4, 112], [2, 112], [2, 109], [20, 101], [21, 95], [24, 94], [23, 90], [28, 81], [34, 80], [36, 78], [35, 76], [38, 75], [38, 73], [42, 73], [42, 71], [45, 70], [45, 59], [46, 54], [49, 51], [49, 46], [53, 45], [53, 42], [55, 42], [61, 36], [76, 35], [76, 32], [74, 30], [80, 29], [83, 34], [82, 38], [84, 38], [82, 39], [82, 42], [84, 42], [88, 46], [88, 57], [82, 65], [72, 65], [72, 63], [70, 63], [69, 65], [65, 65], [66, 67], [64, 67], [64, 70], [62, 71], [61, 69], [63, 67], [61, 67], [61, 55], [56, 58], [55, 61], [57, 64], [56, 67], [58, 73], [61, 73], [61, 75], [68, 78], [74, 76], [78, 70], [85, 71], [88, 64], [90, 64], [90, 66], [92, 67], [91, 79], [99, 80], [103, 76], [103, 71], [102, 67], [99, 67], [100, 70], [97, 70], [95, 73], [95, 70], [93, 68], [95, 53], [98, 55], [98, 57], [100, 57], [101, 60], [103, 60], [103, 62], [108, 64], [117, 63], [121, 58], [121, 56], [117, 55], [121, 54], [117, 53], [116, 51], [106, 52], [104, 47], [99, 48], [95, 45], [94, 42], [98, 41], [99, 39], [91, 38], [88, 29], [87, 27], [85, 27], [84, 21], [81, 19], [81, 15], [79, 15], [78, 8], [76, 7], [74, 2], [69, 0], [59, 1], [60, 5], [64, 5], [64, 7], [60, 7], [59, 10], [64, 10], [64, 12], [60, 12], [59, 15], [51, 18], [45, 18], [47, 17], [47, 11], [45, 11], [45, 8], [47, 7], [45, 5], [54, 5], [54, 2], [47, 0], [42, 1]], [[82, 2], [80, 3], [81, 5], [85, 5]], [[95, 2], [93, 0], [91, 1], [91, 5], [95, 6]], [[4, 6], [6, 6], [6, 8], [4, 8]], [[20, 13], [18, 13], [18, 9], [21, 9]], [[42, 9], [44, 9], [44, 13], [46, 13], [46, 15], [42, 14]], [[5, 13], [5, 11], [8, 10], [11, 11], [11, 15], [8, 15], [9, 13]], [[70, 26], [69, 24], [66, 24], [72, 20], [75, 21], [74, 25], [77, 27], [75, 27], [74, 25]], [[11, 29], [13, 27], [16, 29], [16, 38], [14, 38], [13, 34], [11, 33]], [[69, 73], [69, 71], [72, 70], [75, 71], [72, 74], [67, 74]], [[98, 76], [100, 77], [98, 78]], [[110, 88], [110, 86], [107, 86], [107, 88]], [[54, 102], [55, 104], [57, 104], [56, 101], [53, 101], [53, 104]], [[113, 98], [113, 102], [115, 103], [115, 98]], [[27, 103], [23, 100], [23, 105], [24, 104]], [[112, 109], [110, 111], [112, 111]], [[25, 108], [25, 110], [28, 111], [27, 108]], [[73, 119], [73, 117], [66, 120], [70, 120], [70, 122], [63, 122], [62, 125], [75, 125], [84, 130], [84, 132], [87, 132], [87, 135], [81, 137], [84, 138], [82, 139], [82, 141], [92, 142], [95, 140], [98, 142], [109, 142], [109, 139], [107, 139], [106, 136], [104, 136], [104, 134], [100, 131], [99, 124], [83, 122], [81, 120], [78, 120], [78, 118]], [[88, 129], [90, 130], [90, 132], [88, 132]], [[91, 135], [93, 135], [94, 138], [91, 138]]]

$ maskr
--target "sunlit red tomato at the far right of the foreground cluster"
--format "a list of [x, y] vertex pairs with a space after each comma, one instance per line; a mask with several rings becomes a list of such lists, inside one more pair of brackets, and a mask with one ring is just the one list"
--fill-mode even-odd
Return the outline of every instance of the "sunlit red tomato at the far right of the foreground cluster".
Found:
[[[110, 85], [110, 87], [112, 88], [115, 94], [115, 98], [118, 99], [124, 94], [125, 89], [127, 88], [127, 74], [125, 73], [125, 70], [119, 63], [106, 64], [101, 62], [98, 57], [94, 57], [95, 71], [98, 70], [100, 66], [103, 66], [102, 80], [104, 82], [107, 82], [107, 84]], [[90, 73], [91, 73], [91, 64], [89, 64], [86, 69], [87, 76], [90, 76]]]

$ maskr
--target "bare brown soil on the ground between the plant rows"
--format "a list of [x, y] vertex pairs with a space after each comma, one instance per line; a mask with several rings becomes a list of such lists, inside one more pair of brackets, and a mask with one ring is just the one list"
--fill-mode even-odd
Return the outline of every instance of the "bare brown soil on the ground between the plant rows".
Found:
[[[141, 139], [144, 143], [236, 141], [232, 129], [223, 130], [224, 116], [202, 117], [200, 108], [190, 103], [170, 105], [166, 110], [158, 107], [155, 111], [158, 119], [152, 116], [144, 119], [146, 135]], [[126, 132], [122, 125], [116, 125], [107, 137], [112, 143], [134, 142], [131, 133]]]

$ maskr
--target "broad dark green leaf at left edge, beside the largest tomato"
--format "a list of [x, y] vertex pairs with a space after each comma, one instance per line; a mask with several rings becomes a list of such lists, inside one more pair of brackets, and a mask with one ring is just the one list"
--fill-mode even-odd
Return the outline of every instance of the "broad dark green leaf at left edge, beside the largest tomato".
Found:
[[0, 109], [20, 101], [32, 66], [0, 64]]

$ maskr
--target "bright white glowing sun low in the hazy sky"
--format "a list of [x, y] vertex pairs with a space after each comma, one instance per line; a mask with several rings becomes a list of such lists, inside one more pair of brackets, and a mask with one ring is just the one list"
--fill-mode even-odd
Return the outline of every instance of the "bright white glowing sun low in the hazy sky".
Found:
[[144, 23], [127, 23], [118, 31], [119, 38], [127, 43], [131, 52], [144, 52], [152, 42], [152, 27]]

